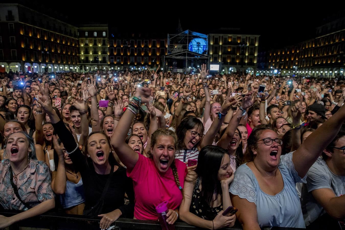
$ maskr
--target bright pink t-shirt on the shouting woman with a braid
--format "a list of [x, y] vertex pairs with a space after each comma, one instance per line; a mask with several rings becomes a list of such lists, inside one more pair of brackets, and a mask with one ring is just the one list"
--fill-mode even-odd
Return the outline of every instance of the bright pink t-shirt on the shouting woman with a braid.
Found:
[[[182, 202], [181, 190], [176, 185], [172, 169], [160, 173], [151, 158], [139, 155], [132, 171], [127, 176], [133, 180], [135, 205], [134, 217], [138, 220], [158, 220], [156, 206], [168, 201], [168, 209], [176, 209]], [[175, 159], [180, 186], [183, 188], [187, 166]]]

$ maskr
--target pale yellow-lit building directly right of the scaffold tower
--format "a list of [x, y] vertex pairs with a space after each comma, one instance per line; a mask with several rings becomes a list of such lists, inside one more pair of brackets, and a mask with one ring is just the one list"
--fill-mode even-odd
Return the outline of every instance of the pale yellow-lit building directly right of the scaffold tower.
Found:
[[256, 70], [259, 35], [208, 34], [210, 62], [220, 64], [220, 72]]

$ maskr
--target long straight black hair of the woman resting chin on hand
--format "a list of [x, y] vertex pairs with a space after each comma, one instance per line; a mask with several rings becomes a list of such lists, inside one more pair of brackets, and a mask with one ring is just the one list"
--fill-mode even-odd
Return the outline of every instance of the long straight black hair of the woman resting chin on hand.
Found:
[[205, 146], [199, 152], [195, 172], [201, 178], [201, 196], [208, 204], [213, 201], [214, 192], [216, 192], [215, 200], [218, 195], [222, 195], [218, 170], [225, 154], [228, 154], [225, 149], [212, 145]]

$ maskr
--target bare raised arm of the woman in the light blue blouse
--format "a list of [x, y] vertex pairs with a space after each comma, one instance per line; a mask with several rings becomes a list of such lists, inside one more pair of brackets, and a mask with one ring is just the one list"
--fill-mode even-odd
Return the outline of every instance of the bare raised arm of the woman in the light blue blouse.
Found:
[[[294, 152], [292, 161], [298, 176], [303, 178], [309, 168], [320, 156], [322, 151], [339, 132], [345, 120], [345, 106], [343, 105], [332, 117], [310, 134], [302, 145]], [[327, 133], [327, 138], [325, 138]]]

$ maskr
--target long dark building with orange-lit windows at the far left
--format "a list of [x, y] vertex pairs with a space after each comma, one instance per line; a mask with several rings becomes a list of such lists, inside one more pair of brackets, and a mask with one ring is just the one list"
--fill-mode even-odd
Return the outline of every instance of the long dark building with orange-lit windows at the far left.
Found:
[[77, 27], [20, 4], [0, 4], [0, 72], [78, 71], [77, 53]]

